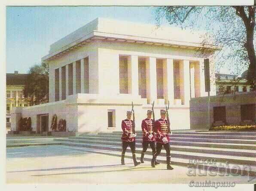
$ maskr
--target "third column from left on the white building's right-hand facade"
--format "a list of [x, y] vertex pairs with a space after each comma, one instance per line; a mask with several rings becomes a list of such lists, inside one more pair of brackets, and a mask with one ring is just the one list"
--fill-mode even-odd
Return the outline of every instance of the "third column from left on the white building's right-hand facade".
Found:
[[165, 59], [163, 61], [164, 74], [164, 97], [174, 104], [174, 60]]

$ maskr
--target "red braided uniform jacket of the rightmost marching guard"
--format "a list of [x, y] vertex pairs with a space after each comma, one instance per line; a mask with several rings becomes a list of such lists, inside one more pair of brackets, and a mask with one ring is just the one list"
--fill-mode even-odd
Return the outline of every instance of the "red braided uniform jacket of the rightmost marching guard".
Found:
[[[168, 133], [168, 121], [166, 119], [158, 119], [155, 121], [155, 131], [156, 131], [156, 142], [158, 143], [168, 143], [170, 137]], [[163, 137], [166, 137], [168, 142], [163, 142]]]

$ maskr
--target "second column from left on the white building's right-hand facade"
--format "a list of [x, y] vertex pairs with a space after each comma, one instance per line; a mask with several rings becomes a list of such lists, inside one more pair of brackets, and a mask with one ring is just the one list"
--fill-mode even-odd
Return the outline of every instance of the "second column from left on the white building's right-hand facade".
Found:
[[157, 100], [156, 90], [156, 58], [149, 57], [146, 59], [146, 94], [147, 103], [153, 103]]

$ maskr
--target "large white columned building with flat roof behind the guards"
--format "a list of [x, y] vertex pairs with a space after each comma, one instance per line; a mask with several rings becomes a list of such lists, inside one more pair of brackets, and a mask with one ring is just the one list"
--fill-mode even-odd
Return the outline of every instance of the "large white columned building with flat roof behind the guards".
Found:
[[[33, 131], [51, 131], [52, 117], [67, 131], [121, 131], [134, 102], [137, 129], [155, 101], [155, 117], [170, 101], [172, 129], [189, 129], [189, 101], [207, 96], [200, 35], [186, 30], [97, 18], [50, 46], [49, 103], [12, 110], [12, 131], [31, 117]], [[211, 92], [215, 66], [210, 59]]]

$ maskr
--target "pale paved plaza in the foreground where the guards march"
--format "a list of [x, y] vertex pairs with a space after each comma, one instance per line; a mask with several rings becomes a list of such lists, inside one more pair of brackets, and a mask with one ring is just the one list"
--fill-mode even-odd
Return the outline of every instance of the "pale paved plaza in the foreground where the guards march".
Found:
[[6, 158], [6, 182], [11, 184], [189, 184], [192, 180], [256, 183], [256, 179], [248, 182], [247, 176], [188, 176], [186, 167], [165, 170], [166, 165], [160, 164], [152, 168], [149, 161], [134, 167], [131, 158], [125, 158], [122, 166], [119, 157], [64, 145], [10, 147], [6, 149]]

